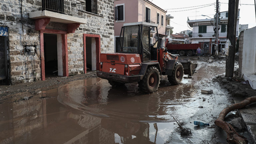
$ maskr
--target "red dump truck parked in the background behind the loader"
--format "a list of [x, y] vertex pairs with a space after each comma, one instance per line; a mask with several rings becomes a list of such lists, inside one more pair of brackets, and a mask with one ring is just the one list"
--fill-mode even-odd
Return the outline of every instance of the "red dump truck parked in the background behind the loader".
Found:
[[179, 54], [180, 56], [193, 56], [196, 54], [198, 47], [202, 47], [201, 44], [171, 44], [167, 42], [168, 38], [165, 43], [167, 51], [172, 54]]

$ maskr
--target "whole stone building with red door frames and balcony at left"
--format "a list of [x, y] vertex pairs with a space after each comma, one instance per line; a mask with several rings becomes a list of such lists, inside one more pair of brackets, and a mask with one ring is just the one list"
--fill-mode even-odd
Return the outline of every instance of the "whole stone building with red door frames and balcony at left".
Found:
[[98, 70], [114, 52], [113, 0], [2, 0], [0, 80], [15, 84]]

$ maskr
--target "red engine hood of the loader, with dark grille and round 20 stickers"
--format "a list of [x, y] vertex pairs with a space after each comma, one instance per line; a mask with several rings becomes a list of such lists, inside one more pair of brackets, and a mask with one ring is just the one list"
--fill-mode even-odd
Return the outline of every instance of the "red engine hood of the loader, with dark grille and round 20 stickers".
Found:
[[100, 54], [100, 62], [125, 64], [125, 65], [141, 64], [139, 54], [124, 54], [124, 53]]

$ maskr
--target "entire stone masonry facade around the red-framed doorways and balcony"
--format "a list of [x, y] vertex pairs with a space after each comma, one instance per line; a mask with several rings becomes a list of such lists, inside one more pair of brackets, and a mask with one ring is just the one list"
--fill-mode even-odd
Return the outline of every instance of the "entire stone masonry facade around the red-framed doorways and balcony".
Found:
[[[40, 32], [29, 18], [33, 0], [1, 0], [0, 26], [8, 27], [9, 73], [12, 84], [41, 79]], [[86, 24], [81, 24], [73, 34], [68, 34], [69, 74], [84, 73], [83, 34], [100, 35], [101, 53], [114, 52], [114, 1], [98, 0], [97, 15], [86, 13]], [[23, 22], [23, 31], [22, 31]], [[66, 24], [50, 22], [47, 29], [66, 30]], [[34, 46], [38, 56], [24, 56], [24, 47]], [[28, 78], [29, 77], [29, 78]], [[28, 79], [27, 79], [28, 78]]]

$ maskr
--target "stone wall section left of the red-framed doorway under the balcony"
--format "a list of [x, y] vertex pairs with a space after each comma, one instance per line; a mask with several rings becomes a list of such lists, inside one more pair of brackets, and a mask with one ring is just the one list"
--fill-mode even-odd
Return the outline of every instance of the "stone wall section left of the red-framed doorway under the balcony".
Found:
[[[20, 0], [2, 0], [0, 3], [0, 26], [8, 27], [9, 74], [12, 84], [41, 79], [40, 60], [37, 56], [24, 56], [24, 46], [37, 46], [39, 31], [34, 29], [34, 21], [29, 19], [32, 1], [23, 0], [23, 29]], [[35, 65], [34, 65], [35, 63]]]

